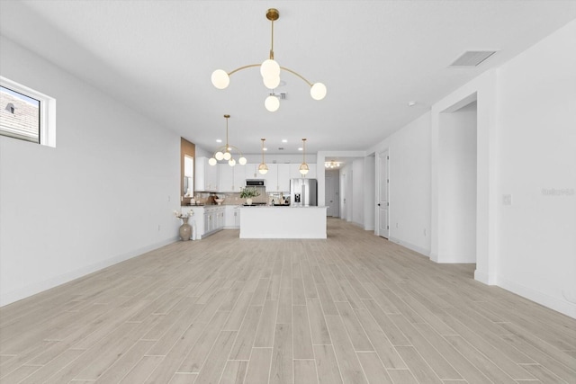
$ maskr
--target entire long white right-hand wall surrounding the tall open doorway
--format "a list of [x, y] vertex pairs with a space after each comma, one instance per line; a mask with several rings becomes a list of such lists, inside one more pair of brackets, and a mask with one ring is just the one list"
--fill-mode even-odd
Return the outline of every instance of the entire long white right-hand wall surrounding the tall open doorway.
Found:
[[[474, 277], [571, 317], [576, 317], [576, 50], [568, 47], [575, 40], [576, 21], [446, 95], [366, 151], [390, 148], [391, 239], [449, 262], [438, 252], [441, 114], [477, 99]], [[512, 205], [503, 205], [504, 194], [512, 195]], [[427, 221], [429, 240], [420, 235]]]

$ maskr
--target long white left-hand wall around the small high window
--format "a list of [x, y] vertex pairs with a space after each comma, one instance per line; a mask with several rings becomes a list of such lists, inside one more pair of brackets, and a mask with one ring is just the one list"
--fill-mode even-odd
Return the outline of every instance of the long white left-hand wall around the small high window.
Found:
[[57, 100], [57, 147], [0, 137], [0, 305], [175, 241], [180, 138], [0, 39], [1, 75]]

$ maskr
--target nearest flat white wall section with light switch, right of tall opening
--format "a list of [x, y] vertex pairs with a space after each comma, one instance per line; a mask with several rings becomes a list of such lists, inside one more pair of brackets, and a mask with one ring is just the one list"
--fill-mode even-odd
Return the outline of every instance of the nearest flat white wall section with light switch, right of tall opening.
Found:
[[500, 67], [499, 285], [576, 317], [576, 21]]

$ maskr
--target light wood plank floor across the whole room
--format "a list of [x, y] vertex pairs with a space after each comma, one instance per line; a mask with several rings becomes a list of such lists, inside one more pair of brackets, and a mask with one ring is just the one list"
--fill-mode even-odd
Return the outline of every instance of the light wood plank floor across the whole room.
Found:
[[178, 242], [0, 309], [2, 383], [576, 383], [576, 320], [329, 219]]

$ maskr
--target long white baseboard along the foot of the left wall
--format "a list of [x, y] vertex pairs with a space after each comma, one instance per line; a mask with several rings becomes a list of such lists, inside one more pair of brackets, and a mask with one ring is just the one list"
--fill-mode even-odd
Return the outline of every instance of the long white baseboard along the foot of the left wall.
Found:
[[10, 292], [2, 292], [2, 294], [0, 294], [0, 307], [4, 307], [5, 305], [14, 303], [15, 301], [18, 301], [21, 299], [26, 299], [32, 295], [40, 293], [41, 291], [49, 290], [51, 288], [57, 287], [58, 285], [64, 284], [68, 281], [73, 281], [73, 280], [78, 279], [78, 278], [85, 276], [87, 274], [100, 271], [103, 268], [109, 267], [109, 266], [116, 264], [116, 263], [121, 263], [125, 260], [131, 259], [132, 257], [136, 257], [139, 255], [145, 254], [147, 252], [153, 251], [153, 250], [160, 248], [162, 246], [167, 246], [168, 244], [175, 243], [178, 240], [179, 240], [179, 237], [171, 237], [171, 238], [168, 238], [168, 239], [161, 241], [159, 243], [152, 244], [149, 246], [144, 246], [142, 248], [135, 249], [135, 250], [128, 252], [126, 254], [117, 255], [117, 256], [114, 256], [110, 259], [87, 265], [83, 268], [77, 269], [76, 271], [67, 272], [67, 273], [64, 273], [64, 274], [61, 274], [61, 275], [58, 275], [55, 277], [51, 277], [51, 278], [44, 280], [44, 281], [35, 282], [33, 284], [27, 285], [27, 286], [20, 288], [18, 290], [12, 290]]

